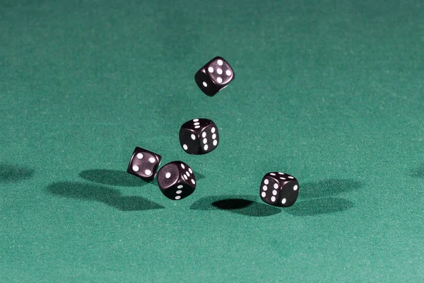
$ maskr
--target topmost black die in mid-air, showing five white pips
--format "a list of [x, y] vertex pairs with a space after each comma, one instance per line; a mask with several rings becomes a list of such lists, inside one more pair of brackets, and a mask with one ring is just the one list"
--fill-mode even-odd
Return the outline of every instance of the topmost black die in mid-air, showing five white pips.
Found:
[[207, 96], [215, 96], [234, 79], [234, 71], [222, 57], [211, 59], [194, 75], [197, 86]]

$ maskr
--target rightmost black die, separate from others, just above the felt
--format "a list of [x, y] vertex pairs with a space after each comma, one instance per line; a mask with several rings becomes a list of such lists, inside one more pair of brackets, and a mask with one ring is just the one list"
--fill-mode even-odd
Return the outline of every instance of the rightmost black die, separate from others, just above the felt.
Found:
[[261, 182], [261, 199], [276, 207], [290, 207], [299, 195], [299, 183], [292, 175], [281, 172], [266, 173]]

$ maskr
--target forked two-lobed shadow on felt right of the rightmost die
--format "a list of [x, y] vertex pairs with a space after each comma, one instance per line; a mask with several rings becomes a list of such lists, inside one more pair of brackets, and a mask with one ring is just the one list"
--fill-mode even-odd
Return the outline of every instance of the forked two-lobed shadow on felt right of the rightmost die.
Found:
[[[359, 190], [364, 183], [349, 179], [329, 179], [301, 185], [299, 200], [284, 212], [295, 216], [331, 214], [351, 209], [355, 205], [349, 200], [334, 195]], [[306, 200], [304, 200], [306, 199]]]

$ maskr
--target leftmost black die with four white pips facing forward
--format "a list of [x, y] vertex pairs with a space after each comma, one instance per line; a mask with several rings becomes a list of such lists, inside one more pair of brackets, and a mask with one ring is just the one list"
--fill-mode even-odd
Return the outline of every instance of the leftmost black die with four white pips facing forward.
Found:
[[161, 160], [162, 156], [159, 154], [141, 149], [141, 147], [136, 147], [126, 172], [136, 175], [147, 182], [151, 182], [155, 178]]

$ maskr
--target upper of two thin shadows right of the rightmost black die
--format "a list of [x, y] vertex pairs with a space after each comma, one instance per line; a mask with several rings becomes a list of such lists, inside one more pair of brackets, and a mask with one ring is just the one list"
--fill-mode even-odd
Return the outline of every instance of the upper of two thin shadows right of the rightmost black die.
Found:
[[363, 185], [364, 183], [362, 182], [349, 179], [329, 179], [305, 184], [300, 183], [299, 200], [312, 197], [330, 197], [342, 192], [358, 190]]

